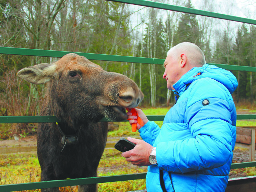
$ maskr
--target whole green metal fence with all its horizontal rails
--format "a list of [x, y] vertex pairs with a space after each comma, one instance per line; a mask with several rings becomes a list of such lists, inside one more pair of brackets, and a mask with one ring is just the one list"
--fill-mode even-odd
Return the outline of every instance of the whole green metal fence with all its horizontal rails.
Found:
[[[178, 11], [183, 13], [190, 13], [190, 14], [232, 20], [236, 22], [256, 25], [256, 20], [253, 20], [253, 19], [224, 15], [224, 14], [196, 10], [191, 8], [184, 8], [181, 6], [174, 6], [174, 5], [156, 3], [151, 1], [144, 1], [144, 0], [110, 0], [110, 1], [147, 6], [147, 7], [156, 8], [156, 9]], [[42, 56], [42, 57], [62, 57], [68, 53], [71, 53], [71, 52], [22, 49], [22, 48], [14, 48], [14, 47], [0, 47], [0, 54], [28, 55], [28, 56]], [[143, 57], [78, 53], [78, 52], [76, 53], [78, 55], [85, 56], [90, 60], [119, 61], [119, 62], [145, 63], [145, 64], [157, 64], [157, 65], [162, 65], [164, 62], [164, 59], [157, 59], [157, 58], [143, 58]], [[216, 65], [218, 67], [221, 67], [227, 70], [256, 72], [256, 67], [234, 66], [234, 65], [224, 65], [224, 64], [211, 64], [211, 65]], [[147, 118], [150, 121], [163, 121], [164, 115], [148, 115]], [[256, 119], [256, 114], [243, 114], [243, 115], [238, 114], [237, 115], [237, 120], [249, 120], [249, 119]], [[103, 118], [101, 121], [107, 121], [107, 119]], [[59, 120], [55, 116], [0, 116], [0, 123], [34, 123], [34, 122], [35, 123], [59, 122]], [[235, 163], [231, 165], [231, 169], [253, 167], [253, 166], [256, 166], [256, 162]], [[145, 179], [145, 178], [146, 178], [146, 173], [139, 173], [139, 174], [114, 175], [114, 176], [82, 178], [82, 179], [42, 181], [42, 182], [34, 182], [34, 183], [19, 183], [19, 184], [1, 185], [0, 191], [8, 192], [8, 191], [33, 190], [33, 189], [42, 189], [42, 188], [51, 188], [51, 187], [65, 187], [65, 186], [75, 186], [75, 185], [89, 184], [89, 183], [104, 183], [104, 182], [114, 182], [114, 181]]]

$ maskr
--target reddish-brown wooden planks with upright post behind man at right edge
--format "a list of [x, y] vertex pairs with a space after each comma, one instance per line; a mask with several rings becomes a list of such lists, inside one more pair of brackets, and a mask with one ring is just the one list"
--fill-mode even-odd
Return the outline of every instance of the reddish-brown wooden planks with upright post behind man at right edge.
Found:
[[249, 149], [249, 161], [254, 161], [255, 153], [255, 128], [236, 127], [236, 146]]

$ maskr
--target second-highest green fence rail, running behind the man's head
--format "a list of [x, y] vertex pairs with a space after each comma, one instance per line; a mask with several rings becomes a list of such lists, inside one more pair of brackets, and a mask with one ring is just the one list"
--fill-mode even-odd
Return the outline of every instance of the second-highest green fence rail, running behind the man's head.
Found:
[[[11, 54], [11, 55], [27, 55], [27, 56], [41, 56], [41, 57], [63, 57], [68, 53], [76, 53], [84, 56], [90, 60], [102, 60], [102, 61], [118, 61], [128, 63], [145, 63], [145, 64], [157, 64], [163, 65], [165, 59], [147, 58], [147, 57], [132, 57], [122, 55], [106, 55], [96, 53], [82, 53], [82, 52], [69, 52], [69, 51], [54, 51], [54, 50], [40, 50], [40, 49], [25, 49], [15, 47], [0, 47], [0, 54]], [[248, 66], [237, 66], [237, 65], [225, 65], [209, 63], [227, 70], [236, 71], [251, 71], [256, 72], [256, 67]]]

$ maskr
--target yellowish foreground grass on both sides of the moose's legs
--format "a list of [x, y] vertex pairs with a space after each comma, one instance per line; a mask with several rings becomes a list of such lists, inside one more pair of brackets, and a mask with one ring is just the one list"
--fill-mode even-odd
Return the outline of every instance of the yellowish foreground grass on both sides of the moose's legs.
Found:
[[[0, 170], [0, 185], [40, 181], [41, 170], [36, 152], [0, 155]], [[139, 168], [131, 165], [121, 156], [121, 152], [111, 148], [105, 149], [98, 166], [98, 176], [145, 173], [146, 171], [147, 167]], [[145, 179], [139, 179], [99, 183], [98, 189], [99, 192], [123, 192], [146, 189], [146, 185]], [[77, 186], [60, 188], [62, 192], [77, 192], [77, 190]]]

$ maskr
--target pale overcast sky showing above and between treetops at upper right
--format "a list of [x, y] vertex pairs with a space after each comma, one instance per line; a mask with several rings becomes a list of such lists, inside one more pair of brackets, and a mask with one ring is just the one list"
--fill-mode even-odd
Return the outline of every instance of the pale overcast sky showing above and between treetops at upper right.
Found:
[[[159, 2], [159, 0], [151, 0], [155, 2]], [[169, 0], [169, 4], [173, 4], [171, 2], [177, 1], [180, 4], [185, 4], [184, 2], [187, 2], [187, 0]], [[165, 2], [168, 2], [167, 0]], [[191, 0], [192, 5], [195, 9], [199, 10], [205, 10], [205, 11], [212, 11], [216, 13], [222, 13], [226, 15], [234, 15], [238, 17], [244, 17], [249, 19], [256, 19], [256, 0]], [[204, 6], [203, 3], [208, 2], [210, 5]], [[131, 6], [131, 10], [138, 10], [142, 9], [142, 6], [137, 5], [129, 5]], [[184, 6], [184, 5], [180, 5]], [[212, 8], [211, 10], [209, 8]], [[158, 17], [164, 18], [167, 15], [166, 10], [159, 10]], [[181, 15], [181, 13], [178, 13], [177, 15]], [[146, 13], [146, 9], [143, 9], [131, 16], [131, 26], [134, 28], [139, 23], [141, 23], [142, 18], [145, 19], [145, 23], [147, 23], [148, 14]], [[198, 16], [197, 19], [200, 23], [200, 20], [202, 20], [204, 16]], [[210, 45], [212, 47], [215, 47], [215, 43], [218, 39], [221, 38], [223, 31], [228, 31], [229, 37], [234, 39], [236, 36], [236, 32], [239, 26], [242, 25], [240, 22], [234, 22], [234, 21], [228, 21], [224, 19], [217, 19], [212, 18], [212, 32], [211, 35], [211, 41]], [[249, 29], [249, 24], [246, 24], [247, 28]], [[144, 33], [145, 34], [145, 27], [146, 25], [142, 26], [139, 25], [136, 31], [139, 31], [139, 33], [136, 33], [136, 36], [139, 38]]]

